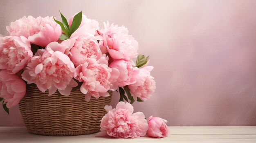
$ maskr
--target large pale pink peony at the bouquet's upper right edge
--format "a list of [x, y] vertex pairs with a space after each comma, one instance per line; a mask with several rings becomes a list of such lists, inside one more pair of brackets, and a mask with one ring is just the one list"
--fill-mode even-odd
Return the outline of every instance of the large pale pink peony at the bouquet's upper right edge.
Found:
[[104, 23], [102, 31], [103, 45], [114, 60], [123, 59], [129, 61], [137, 55], [138, 42], [128, 35], [126, 27], [118, 27], [114, 24]]

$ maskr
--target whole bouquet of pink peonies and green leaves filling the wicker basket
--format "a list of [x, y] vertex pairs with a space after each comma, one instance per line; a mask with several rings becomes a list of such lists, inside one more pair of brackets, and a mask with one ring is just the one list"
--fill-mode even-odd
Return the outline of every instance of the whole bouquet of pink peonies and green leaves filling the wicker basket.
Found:
[[61, 18], [23, 17], [0, 37], [0, 101], [8, 114], [32, 87], [49, 96], [80, 90], [86, 101], [117, 89], [119, 101], [131, 104], [151, 96], [153, 66], [147, 66], [148, 57], [137, 55], [138, 42], [126, 27], [107, 22], [100, 29], [82, 12], [69, 21]]

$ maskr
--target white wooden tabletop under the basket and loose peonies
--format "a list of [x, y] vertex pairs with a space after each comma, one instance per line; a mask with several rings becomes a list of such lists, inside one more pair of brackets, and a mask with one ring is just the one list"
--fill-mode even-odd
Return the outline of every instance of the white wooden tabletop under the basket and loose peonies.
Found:
[[168, 137], [155, 139], [115, 139], [80, 136], [41, 136], [27, 132], [25, 127], [0, 127], [0, 143], [256, 143], [256, 126], [168, 127]]

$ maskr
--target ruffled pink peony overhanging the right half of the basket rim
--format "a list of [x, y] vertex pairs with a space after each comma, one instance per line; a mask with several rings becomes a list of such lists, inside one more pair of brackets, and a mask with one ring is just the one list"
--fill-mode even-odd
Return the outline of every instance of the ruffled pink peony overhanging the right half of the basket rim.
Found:
[[116, 90], [112, 83], [118, 76], [119, 71], [108, 67], [108, 60], [103, 56], [99, 60], [87, 58], [84, 64], [76, 67], [74, 78], [83, 82], [80, 90], [85, 94], [85, 100], [90, 101], [91, 96], [106, 97], [109, 96], [108, 90]]

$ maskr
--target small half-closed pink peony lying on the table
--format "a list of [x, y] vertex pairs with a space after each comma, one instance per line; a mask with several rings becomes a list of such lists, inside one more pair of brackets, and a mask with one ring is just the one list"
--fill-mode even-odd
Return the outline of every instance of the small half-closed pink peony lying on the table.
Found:
[[168, 135], [166, 122], [165, 119], [150, 116], [148, 118], [148, 136], [154, 138], [166, 137]]

